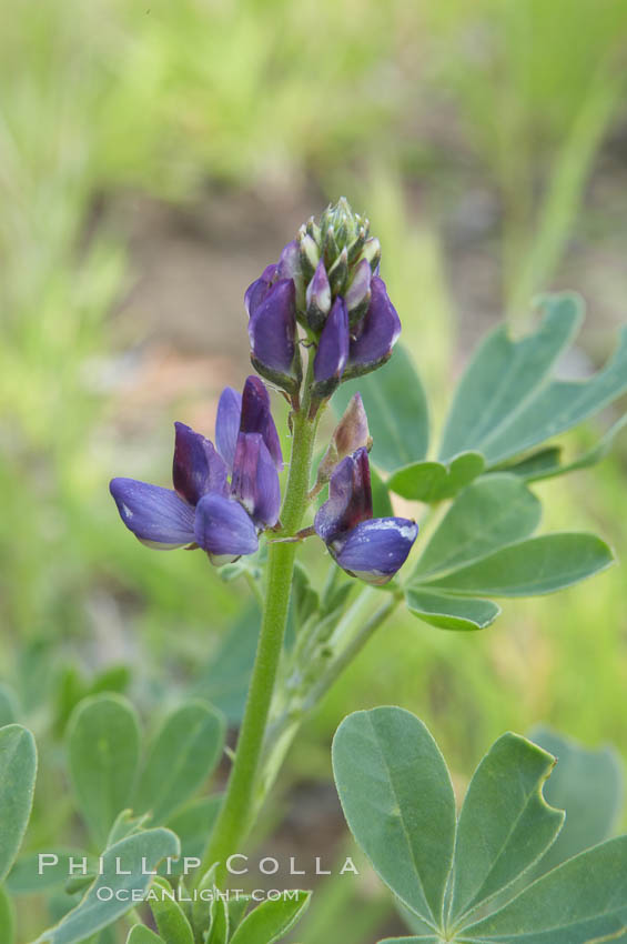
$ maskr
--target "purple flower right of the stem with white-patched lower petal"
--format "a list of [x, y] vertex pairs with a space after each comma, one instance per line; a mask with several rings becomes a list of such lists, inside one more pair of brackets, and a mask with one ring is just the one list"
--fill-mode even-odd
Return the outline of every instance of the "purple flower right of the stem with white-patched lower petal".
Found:
[[328, 500], [314, 528], [336, 563], [367, 583], [382, 585], [405, 563], [418, 534], [406, 518], [373, 518], [367, 450], [358, 449], [335, 469]]

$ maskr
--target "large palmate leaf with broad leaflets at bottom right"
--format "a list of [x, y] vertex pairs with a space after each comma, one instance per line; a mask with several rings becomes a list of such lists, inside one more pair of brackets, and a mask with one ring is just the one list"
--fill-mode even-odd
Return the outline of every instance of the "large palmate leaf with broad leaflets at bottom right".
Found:
[[[496, 896], [519, 887], [520, 875], [562, 827], [564, 813], [543, 796], [554, 762], [526, 739], [503, 735], [471, 781], [451, 862], [448, 816], [441, 815], [451, 802], [449, 781], [425, 726], [397, 707], [356, 712], [343, 721], [333, 766], [351, 831], [402, 904], [426, 920], [427, 926], [419, 925], [424, 930], [393, 938], [395, 944], [606, 944], [625, 938], [627, 836], [569, 858], [498, 906]], [[429, 874], [421, 855], [434, 850]], [[448, 867], [442, 870], [444, 861]], [[439, 882], [439, 888], [429, 885], [426, 897], [427, 886], [411, 881], [423, 873]], [[425, 900], [436, 905], [428, 915]], [[442, 911], [438, 903], [444, 903]]]

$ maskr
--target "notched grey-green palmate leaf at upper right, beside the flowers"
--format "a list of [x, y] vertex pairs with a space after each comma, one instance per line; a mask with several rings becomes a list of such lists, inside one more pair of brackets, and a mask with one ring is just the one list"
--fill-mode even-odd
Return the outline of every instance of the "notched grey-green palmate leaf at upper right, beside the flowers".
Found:
[[[553, 365], [582, 322], [583, 307], [575, 295], [555, 294], [543, 297], [540, 308], [543, 320], [533, 334], [513, 341], [502, 325], [479, 347], [451, 408], [442, 461], [476, 450], [488, 468], [502, 464], [573, 429], [627, 391], [627, 330], [615, 354], [594, 376], [550, 380]], [[608, 434], [610, 441], [615, 432]], [[605, 448], [601, 441], [599, 451], [574, 468], [598, 461]], [[554, 466], [553, 474], [560, 472]]]

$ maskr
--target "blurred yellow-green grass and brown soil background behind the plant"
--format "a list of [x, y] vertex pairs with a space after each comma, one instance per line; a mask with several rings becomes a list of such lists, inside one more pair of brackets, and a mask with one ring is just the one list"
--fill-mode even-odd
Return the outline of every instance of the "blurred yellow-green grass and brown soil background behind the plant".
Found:
[[[626, 315], [626, 66], [623, 0], [0, 6], [0, 707], [19, 696], [52, 754], [98, 687], [146, 717], [193, 689], [236, 723], [245, 586], [142, 548], [108, 481], [169, 484], [175, 419], [212, 434], [249, 371], [246, 285], [330, 200], [382, 241], [436, 423], [474, 343], [504, 317], [530, 328], [538, 291], [587, 301], [570, 375], [603, 363]], [[462, 785], [538, 721], [627, 754], [626, 468], [624, 435], [537, 490], [545, 528], [615, 546], [609, 572], [484, 634], [378, 633], [290, 754], [274, 851], [350, 847], [328, 747], [360, 707], [419, 714]], [[367, 944], [394, 921], [376, 882], [335, 882], [299, 940]]]

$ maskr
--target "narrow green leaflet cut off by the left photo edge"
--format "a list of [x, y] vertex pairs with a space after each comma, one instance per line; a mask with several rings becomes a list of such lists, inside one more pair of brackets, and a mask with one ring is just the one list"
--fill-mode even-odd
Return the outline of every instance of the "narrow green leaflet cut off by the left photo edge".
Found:
[[37, 747], [30, 731], [21, 724], [0, 729], [0, 883], [22, 844], [36, 777]]

